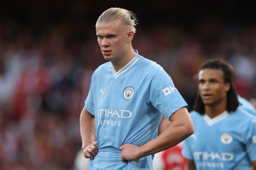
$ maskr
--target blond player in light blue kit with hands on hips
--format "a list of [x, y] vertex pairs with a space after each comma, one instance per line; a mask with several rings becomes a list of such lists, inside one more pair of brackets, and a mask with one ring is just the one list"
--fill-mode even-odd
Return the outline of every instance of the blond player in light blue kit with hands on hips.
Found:
[[[122, 8], [107, 9], [96, 22], [98, 44], [110, 62], [93, 73], [80, 117], [89, 169], [153, 169], [152, 154], [194, 132], [187, 103], [170, 76], [133, 50], [135, 26], [134, 14]], [[172, 123], [157, 136], [162, 115]]]

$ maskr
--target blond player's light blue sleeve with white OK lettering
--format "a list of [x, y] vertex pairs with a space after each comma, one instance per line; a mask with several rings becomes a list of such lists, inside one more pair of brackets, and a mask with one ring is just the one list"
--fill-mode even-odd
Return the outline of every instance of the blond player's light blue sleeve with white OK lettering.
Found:
[[166, 118], [187, 103], [174, 86], [171, 77], [161, 68], [155, 68], [150, 82], [149, 100], [151, 104]]

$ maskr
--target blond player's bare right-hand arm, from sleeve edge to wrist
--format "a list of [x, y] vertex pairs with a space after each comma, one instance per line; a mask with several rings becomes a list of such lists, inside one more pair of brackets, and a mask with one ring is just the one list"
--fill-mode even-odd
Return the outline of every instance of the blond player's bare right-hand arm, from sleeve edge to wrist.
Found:
[[176, 118], [158, 137], [140, 146], [142, 157], [173, 147], [194, 133], [194, 125], [189, 114], [181, 113], [175, 114]]

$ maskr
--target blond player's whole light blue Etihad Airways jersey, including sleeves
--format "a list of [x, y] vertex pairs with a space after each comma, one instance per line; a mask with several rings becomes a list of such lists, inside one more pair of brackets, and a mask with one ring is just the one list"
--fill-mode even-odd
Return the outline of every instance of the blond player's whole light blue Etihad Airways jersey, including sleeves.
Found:
[[124, 163], [119, 147], [152, 140], [162, 115], [169, 118], [187, 103], [161, 66], [137, 54], [118, 72], [111, 62], [98, 67], [85, 106], [95, 116], [99, 149], [90, 169], [149, 170], [152, 155]]

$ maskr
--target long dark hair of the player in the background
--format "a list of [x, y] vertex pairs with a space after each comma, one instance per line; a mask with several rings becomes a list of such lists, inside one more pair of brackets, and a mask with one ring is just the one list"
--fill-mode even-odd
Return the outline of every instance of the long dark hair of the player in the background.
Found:
[[[203, 70], [203, 69], [216, 69], [216, 70], [222, 71], [224, 83], [230, 83], [230, 89], [227, 92], [227, 111], [229, 113], [232, 111], [235, 111], [239, 106], [239, 102], [238, 102], [237, 93], [234, 87], [235, 73], [234, 73], [233, 67], [229, 63], [223, 60], [210, 59], [202, 63], [200, 70]], [[204, 115], [204, 112], [205, 112], [204, 104], [200, 97], [199, 91], [196, 96], [193, 110], [200, 113], [201, 115]]]

